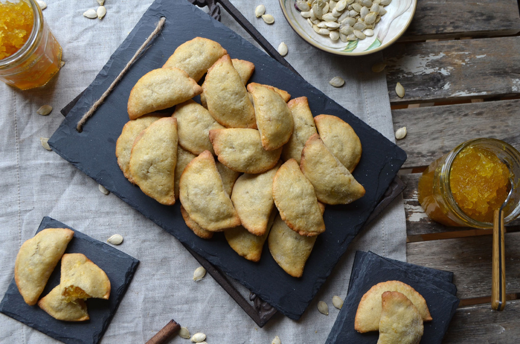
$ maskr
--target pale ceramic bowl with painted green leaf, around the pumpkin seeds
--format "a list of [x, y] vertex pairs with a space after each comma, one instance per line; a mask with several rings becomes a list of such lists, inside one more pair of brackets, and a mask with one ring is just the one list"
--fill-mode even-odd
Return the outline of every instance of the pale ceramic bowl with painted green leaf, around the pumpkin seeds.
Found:
[[[308, 2], [311, 3], [311, 0]], [[344, 56], [369, 54], [394, 43], [410, 25], [417, 6], [417, 0], [392, 0], [389, 5], [384, 7], [387, 11], [385, 15], [381, 16], [381, 20], [375, 24], [373, 36], [342, 42], [340, 39], [333, 41], [329, 36], [316, 33], [307, 22], [307, 18], [302, 17], [295, 3], [295, 0], [280, 0], [283, 15], [293, 30], [310, 45]]]

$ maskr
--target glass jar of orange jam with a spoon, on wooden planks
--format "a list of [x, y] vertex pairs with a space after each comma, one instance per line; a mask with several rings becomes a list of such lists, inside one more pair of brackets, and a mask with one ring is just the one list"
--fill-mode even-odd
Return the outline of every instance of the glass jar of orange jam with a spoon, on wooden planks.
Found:
[[496, 139], [466, 141], [435, 160], [419, 180], [430, 218], [447, 226], [492, 228], [493, 213], [509, 194], [504, 221], [520, 214], [520, 153]]

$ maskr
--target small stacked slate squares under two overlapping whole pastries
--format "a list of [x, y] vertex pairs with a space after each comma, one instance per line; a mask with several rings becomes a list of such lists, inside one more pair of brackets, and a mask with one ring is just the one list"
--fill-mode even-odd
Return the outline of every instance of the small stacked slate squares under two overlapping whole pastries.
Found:
[[[434, 284], [424, 279], [432, 269], [422, 266], [399, 262], [394, 264], [392, 259], [380, 257], [372, 252], [357, 251], [354, 258], [352, 274], [348, 286], [347, 297], [343, 302], [334, 326], [330, 331], [326, 344], [375, 344], [378, 342], [379, 332], [358, 333], [354, 329], [354, 319], [361, 297], [375, 284], [385, 281], [401, 281], [412, 286], [426, 300], [433, 320], [424, 323], [424, 334], [421, 344], [440, 344], [448, 325], [457, 310], [459, 299]], [[438, 270], [441, 271], [441, 270]], [[418, 276], [418, 274], [421, 277]], [[451, 272], [441, 271], [430, 274], [432, 279], [436, 276], [449, 277]], [[440, 280], [447, 282], [446, 280]], [[456, 292], [456, 289], [455, 291]]]

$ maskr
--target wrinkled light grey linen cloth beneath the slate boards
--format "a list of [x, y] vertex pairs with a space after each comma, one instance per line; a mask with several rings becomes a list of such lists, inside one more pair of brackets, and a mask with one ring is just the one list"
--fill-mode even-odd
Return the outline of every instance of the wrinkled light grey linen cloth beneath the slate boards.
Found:
[[[193, 271], [199, 264], [177, 239], [116, 196], [102, 194], [97, 183], [40, 144], [40, 137], [50, 137], [63, 120], [59, 110], [92, 82], [152, 1], [106, 0], [103, 20], [82, 16], [98, 6], [96, 0], [46, 1], [44, 17], [63, 47], [66, 64], [58, 77], [41, 89], [18, 91], [0, 83], [0, 297], [14, 276], [20, 245], [34, 235], [43, 216], [100, 241], [120, 233], [124, 242], [117, 248], [140, 260], [102, 343], [144, 343], [172, 318], [192, 334], [205, 333], [210, 344], [270, 343], [276, 335], [282, 343], [323, 343], [339, 312], [332, 306], [332, 296], [346, 296], [355, 250], [406, 259], [405, 215], [399, 197], [356, 238], [299, 321], [277, 314], [258, 328], [211, 276], [193, 282]], [[232, 3], [275, 48], [282, 41], [287, 44], [287, 61], [306, 80], [393, 140], [385, 76], [370, 71], [381, 58], [379, 54], [343, 58], [309, 46], [285, 21], [278, 0]], [[274, 24], [255, 18], [254, 9], [259, 4], [275, 17]], [[252, 40], [225, 11], [222, 21]], [[345, 79], [342, 88], [329, 85], [334, 76]], [[53, 106], [53, 112], [36, 114], [45, 104]], [[240, 285], [239, 290], [249, 295]], [[328, 316], [318, 312], [318, 300], [328, 303]], [[0, 314], [0, 342], [58, 341]], [[171, 342], [189, 341], [177, 337]]]

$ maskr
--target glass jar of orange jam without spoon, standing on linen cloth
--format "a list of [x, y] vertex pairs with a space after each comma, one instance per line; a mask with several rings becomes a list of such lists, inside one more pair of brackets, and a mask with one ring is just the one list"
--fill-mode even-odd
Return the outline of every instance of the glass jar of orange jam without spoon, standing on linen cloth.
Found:
[[34, 0], [0, 0], [0, 80], [21, 90], [59, 71], [61, 46]]

